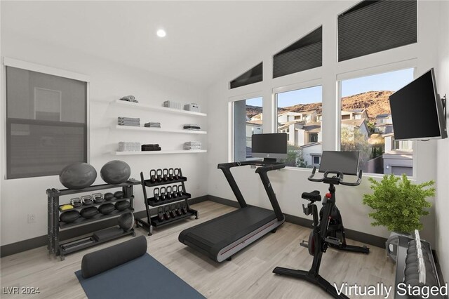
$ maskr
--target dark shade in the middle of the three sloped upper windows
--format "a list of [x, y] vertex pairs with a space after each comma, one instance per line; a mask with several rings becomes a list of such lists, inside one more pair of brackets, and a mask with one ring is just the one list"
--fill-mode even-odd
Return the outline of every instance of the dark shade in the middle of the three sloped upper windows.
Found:
[[273, 56], [273, 78], [323, 65], [323, 27]]

